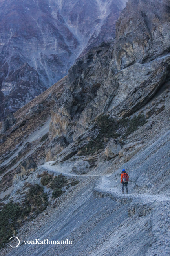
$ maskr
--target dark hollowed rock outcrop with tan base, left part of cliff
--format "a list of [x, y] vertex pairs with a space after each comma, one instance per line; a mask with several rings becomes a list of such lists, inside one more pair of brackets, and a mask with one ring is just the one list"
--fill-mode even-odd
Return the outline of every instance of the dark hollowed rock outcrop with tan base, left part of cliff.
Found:
[[[66, 90], [51, 111], [50, 139], [64, 135], [68, 143], [73, 141], [74, 128], [81, 113], [96, 98], [101, 83], [108, 75], [109, 48], [109, 43], [93, 48], [69, 70]], [[84, 132], [82, 124], [78, 125]]]

